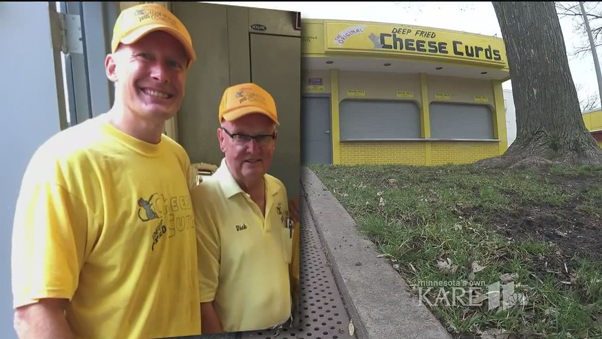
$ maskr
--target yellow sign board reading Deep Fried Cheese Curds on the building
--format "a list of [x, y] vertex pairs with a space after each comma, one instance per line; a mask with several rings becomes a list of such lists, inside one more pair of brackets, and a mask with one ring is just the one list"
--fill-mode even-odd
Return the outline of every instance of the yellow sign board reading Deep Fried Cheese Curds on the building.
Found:
[[429, 55], [507, 67], [502, 39], [407, 25], [326, 22], [326, 51]]

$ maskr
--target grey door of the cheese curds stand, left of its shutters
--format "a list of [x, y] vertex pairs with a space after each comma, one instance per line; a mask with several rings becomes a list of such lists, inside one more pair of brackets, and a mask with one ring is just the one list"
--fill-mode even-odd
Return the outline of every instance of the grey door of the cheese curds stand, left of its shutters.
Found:
[[301, 163], [332, 163], [330, 98], [304, 97], [301, 109]]

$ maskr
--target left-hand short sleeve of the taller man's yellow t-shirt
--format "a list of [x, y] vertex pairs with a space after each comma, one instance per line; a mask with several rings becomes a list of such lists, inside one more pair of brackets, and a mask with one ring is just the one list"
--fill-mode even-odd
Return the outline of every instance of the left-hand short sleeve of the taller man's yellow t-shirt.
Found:
[[41, 172], [30, 164], [13, 221], [14, 308], [42, 298], [71, 299], [85, 256], [87, 208], [61, 185], [59, 170], [37, 176], [34, 169]]

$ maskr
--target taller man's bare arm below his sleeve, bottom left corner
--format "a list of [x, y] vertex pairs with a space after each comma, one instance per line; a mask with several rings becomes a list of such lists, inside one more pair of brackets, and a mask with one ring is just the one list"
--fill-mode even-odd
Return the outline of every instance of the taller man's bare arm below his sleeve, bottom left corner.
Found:
[[66, 299], [40, 299], [14, 312], [14, 329], [19, 339], [75, 339], [67, 324]]

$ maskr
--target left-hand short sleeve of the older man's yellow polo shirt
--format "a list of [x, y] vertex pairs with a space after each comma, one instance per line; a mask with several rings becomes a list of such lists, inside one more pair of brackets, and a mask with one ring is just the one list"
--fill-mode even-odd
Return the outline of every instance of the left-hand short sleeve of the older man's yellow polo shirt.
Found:
[[211, 211], [204, 201], [204, 183], [191, 192], [196, 223], [197, 262], [199, 266], [200, 302], [211, 302], [216, 296], [220, 271], [220, 238]]

